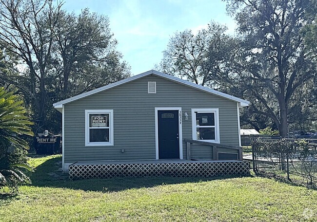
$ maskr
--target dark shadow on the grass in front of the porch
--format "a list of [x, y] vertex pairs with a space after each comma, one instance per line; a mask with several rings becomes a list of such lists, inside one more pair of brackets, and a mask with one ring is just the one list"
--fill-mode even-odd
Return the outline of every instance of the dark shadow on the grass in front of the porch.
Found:
[[81, 189], [85, 191], [111, 192], [131, 188], [153, 187], [157, 185], [197, 183], [216, 179], [233, 177], [212, 178], [176, 178], [176, 177], [144, 177], [144, 178], [111, 178], [111, 179], [88, 179], [71, 181], [68, 174], [59, 170], [61, 158], [55, 157], [45, 161], [36, 167], [36, 171], [30, 175], [33, 186], [61, 187], [69, 189]]

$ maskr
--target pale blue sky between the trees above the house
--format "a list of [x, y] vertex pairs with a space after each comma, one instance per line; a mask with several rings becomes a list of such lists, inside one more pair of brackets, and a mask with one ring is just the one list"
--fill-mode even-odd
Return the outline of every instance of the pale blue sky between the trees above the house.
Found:
[[132, 75], [153, 69], [177, 31], [195, 33], [210, 20], [226, 25], [229, 33], [235, 29], [221, 0], [65, 0], [63, 8], [75, 13], [89, 8], [107, 15], [117, 49], [131, 66]]

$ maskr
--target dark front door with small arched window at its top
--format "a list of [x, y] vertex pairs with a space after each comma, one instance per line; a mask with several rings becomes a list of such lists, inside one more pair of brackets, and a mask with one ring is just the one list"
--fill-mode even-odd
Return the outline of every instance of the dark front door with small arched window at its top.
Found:
[[178, 111], [158, 111], [158, 159], [178, 159]]

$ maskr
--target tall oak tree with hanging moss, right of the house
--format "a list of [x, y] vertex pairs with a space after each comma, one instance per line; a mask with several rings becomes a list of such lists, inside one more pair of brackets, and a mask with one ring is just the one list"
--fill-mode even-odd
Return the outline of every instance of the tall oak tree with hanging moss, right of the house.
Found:
[[[315, 22], [314, 0], [227, 0], [243, 41], [242, 81], [252, 112], [274, 120], [288, 135], [291, 101], [316, 76], [316, 53], [301, 30]], [[308, 13], [309, 12], [309, 13]]]

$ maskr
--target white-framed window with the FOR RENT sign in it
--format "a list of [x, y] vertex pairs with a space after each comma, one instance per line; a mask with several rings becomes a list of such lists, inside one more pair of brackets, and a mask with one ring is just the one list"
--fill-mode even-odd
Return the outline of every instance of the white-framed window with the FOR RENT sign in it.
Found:
[[113, 146], [113, 110], [85, 110], [85, 146]]

